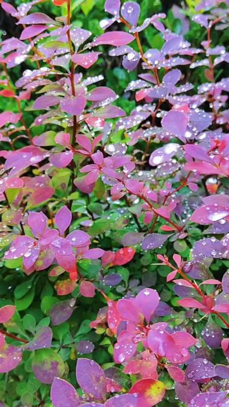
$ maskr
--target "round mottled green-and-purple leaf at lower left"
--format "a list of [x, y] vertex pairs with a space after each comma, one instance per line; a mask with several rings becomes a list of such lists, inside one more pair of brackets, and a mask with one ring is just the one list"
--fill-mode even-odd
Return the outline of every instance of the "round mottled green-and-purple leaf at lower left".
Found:
[[39, 349], [33, 359], [33, 372], [41, 383], [50, 384], [55, 376], [62, 376], [65, 364], [60, 355], [51, 349]]

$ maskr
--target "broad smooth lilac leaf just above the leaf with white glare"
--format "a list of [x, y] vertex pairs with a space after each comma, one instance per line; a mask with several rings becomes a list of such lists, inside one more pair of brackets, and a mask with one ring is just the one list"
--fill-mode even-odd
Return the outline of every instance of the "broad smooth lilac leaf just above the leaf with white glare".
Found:
[[185, 137], [187, 124], [187, 114], [178, 110], [169, 110], [161, 121], [161, 125], [166, 131], [178, 137]]

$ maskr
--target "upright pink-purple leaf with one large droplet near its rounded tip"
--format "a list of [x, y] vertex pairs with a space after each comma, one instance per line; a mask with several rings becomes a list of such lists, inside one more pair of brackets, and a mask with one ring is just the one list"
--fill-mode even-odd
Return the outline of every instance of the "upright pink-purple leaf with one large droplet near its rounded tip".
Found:
[[160, 297], [155, 289], [144, 288], [135, 298], [135, 303], [139, 311], [145, 316], [146, 321], [149, 323], [151, 316], [158, 307]]

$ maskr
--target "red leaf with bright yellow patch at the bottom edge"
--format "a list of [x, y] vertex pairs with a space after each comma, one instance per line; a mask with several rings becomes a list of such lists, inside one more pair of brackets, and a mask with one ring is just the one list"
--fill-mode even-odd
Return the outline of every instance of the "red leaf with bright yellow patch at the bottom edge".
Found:
[[129, 393], [137, 393], [139, 407], [152, 407], [163, 399], [165, 385], [159, 380], [142, 379], [131, 387]]

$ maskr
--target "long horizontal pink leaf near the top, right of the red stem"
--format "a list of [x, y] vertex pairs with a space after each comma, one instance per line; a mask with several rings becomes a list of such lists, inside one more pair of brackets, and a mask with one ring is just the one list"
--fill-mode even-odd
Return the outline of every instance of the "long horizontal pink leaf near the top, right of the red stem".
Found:
[[115, 45], [116, 47], [120, 47], [129, 44], [133, 40], [134, 37], [131, 34], [123, 31], [111, 31], [100, 35], [92, 45]]

